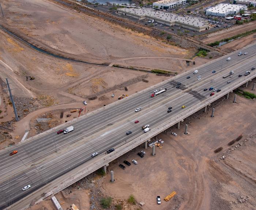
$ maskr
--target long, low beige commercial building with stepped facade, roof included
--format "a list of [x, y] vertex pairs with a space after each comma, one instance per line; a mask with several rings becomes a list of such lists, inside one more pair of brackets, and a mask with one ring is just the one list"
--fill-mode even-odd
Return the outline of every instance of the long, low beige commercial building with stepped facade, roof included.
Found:
[[207, 20], [189, 16], [178, 16], [170, 12], [143, 8], [119, 8], [117, 12], [138, 20], [154, 20], [166, 26], [182, 26], [193, 31], [205, 31], [209, 29]]

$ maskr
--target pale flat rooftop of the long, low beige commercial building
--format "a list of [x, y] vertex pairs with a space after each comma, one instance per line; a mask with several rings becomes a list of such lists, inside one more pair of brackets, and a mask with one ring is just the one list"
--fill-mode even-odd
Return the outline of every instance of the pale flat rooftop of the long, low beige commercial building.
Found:
[[121, 8], [119, 11], [126, 12], [128, 14], [133, 14], [137, 16], [150, 16], [153, 19], [162, 19], [163, 21], [177, 21], [184, 24], [189, 24], [191, 26], [202, 27], [208, 26], [207, 20], [199, 19], [195, 17], [189, 16], [178, 16], [176, 14], [170, 12], [162, 12], [150, 9], [142, 9], [142, 8]]

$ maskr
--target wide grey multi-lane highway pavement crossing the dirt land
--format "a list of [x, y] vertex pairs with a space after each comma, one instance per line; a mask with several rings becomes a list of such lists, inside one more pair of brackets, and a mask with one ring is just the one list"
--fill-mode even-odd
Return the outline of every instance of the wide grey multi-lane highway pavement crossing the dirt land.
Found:
[[[161, 83], [157, 88], [148, 88], [122, 99], [114, 106], [95, 111], [95, 114], [75, 121], [72, 124], [75, 130], [71, 133], [58, 135], [55, 130], [1, 152], [0, 209], [91, 160], [93, 152], [108, 156], [106, 150], [117, 148], [118, 144], [133, 138], [143, 137], [143, 125], [149, 124], [153, 129], [164, 122], [174, 121], [184, 110], [214, 97], [210, 96], [212, 91], [204, 91], [204, 88], [213, 87], [224, 91], [230, 85], [244, 81], [246, 70], [256, 77], [256, 70], [251, 70], [253, 66], [256, 67], [256, 44], [242, 51], [248, 54], [230, 54], [197, 68], [199, 73], [195, 75], [190, 70]], [[226, 61], [227, 57], [231, 60]], [[216, 73], [212, 73], [213, 70]], [[222, 76], [230, 70], [235, 72], [233, 77], [223, 79]], [[238, 77], [239, 74], [243, 76]], [[197, 80], [199, 75], [201, 80]], [[187, 76], [190, 78], [187, 79]], [[227, 81], [231, 82], [228, 84]], [[176, 88], [177, 83], [181, 83], [180, 88]], [[167, 91], [150, 98], [150, 94], [160, 88], [167, 88]], [[218, 93], [215, 91], [216, 95]], [[182, 109], [182, 105], [186, 108]], [[169, 106], [173, 107], [172, 112], [167, 113]], [[142, 110], [135, 112], [138, 107], [142, 107]], [[135, 124], [135, 120], [139, 120], [139, 123]], [[132, 134], [126, 135], [129, 130]], [[18, 153], [9, 156], [12, 150], [18, 150]], [[31, 188], [22, 191], [28, 184]]]

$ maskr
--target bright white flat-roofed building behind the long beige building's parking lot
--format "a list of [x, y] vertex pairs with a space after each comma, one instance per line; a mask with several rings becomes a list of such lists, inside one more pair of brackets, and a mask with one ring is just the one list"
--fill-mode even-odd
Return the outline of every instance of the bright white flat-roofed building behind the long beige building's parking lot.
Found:
[[206, 15], [222, 16], [236, 15], [241, 9], [247, 9], [246, 5], [237, 4], [218, 4], [206, 10]]

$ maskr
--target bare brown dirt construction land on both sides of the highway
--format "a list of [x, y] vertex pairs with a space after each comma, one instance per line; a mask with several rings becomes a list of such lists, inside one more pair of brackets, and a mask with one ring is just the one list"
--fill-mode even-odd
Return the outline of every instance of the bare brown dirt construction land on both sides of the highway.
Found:
[[[256, 42], [251, 34], [216, 49], [207, 46], [237, 31], [253, 30], [253, 23], [167, 41], [161, 31], [75, 1], [7, 0], [1, 8], [0, 149]], [[196, 56], [199, 45], [210, 49], [207, 56]], [[256, 94], [251, 86], [241, 89]], [[140, 145], [109, 163], [107, 173], [97, 170], [55, 197], [65, 210], [104, 209], [103, 198], [112, 199], [108, 209], [113, 210], [255, 209], [255, 100], [238, 95], [235, 105], [219, 99], [212, 107], [214, 118], [211, 111], [199, 111], [181, 122], [189, 125], [188, 135], [173, 126], [155, 136], [156, 156]], [[146, 152], [143, 159], [137, 155], [141, 150]], [[138, 164], [122, 170], [118, 165], [124, 160]], [[109, 181], [111, 170], [114, 184]], [[28, 210], [41, 209], [56, 207], [46, 199], [31, 203]]]

